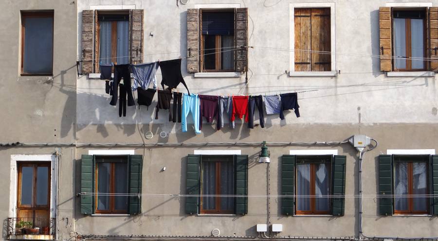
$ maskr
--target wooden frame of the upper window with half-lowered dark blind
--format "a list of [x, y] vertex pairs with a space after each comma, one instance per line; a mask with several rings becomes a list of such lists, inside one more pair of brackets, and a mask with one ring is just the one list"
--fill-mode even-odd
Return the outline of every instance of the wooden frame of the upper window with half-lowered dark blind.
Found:
[[[202, 12], [233, 12], [235, 9], [200, 9], [200, 16], [199, 16], [199, 39], [200, 39], [200, 61], [199, 61], [199, 69], [200, 72], [235, 72], [236, 71], [236, 51], [233, 51], [234, 53], [234, 61], [233, 66], [234, 69], [220, 69], [221, 68], [221, 53], [222, 53], [222, 46], [221, 46], [221, 35], [215, 35], [216, 36], [216, 48], [215, 48], [215, 59], [216, 59], [216, 66], [215, 69], [204, 69], [204, 34], [202, 34]], [[236, 14], [235, 14], [236, 15]], [[236, 17], [234, 19], [234, 48], [236, 48]], [[208, 49], [211, 50], [211, 49]]]

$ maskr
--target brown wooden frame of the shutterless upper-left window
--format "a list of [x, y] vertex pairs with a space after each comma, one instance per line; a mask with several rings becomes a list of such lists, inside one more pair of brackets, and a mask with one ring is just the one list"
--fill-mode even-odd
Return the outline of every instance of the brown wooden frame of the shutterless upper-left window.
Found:
[[[50, 73], [39, 73], [39, 74], [33, 74], [33, 73], [25, 73], [24, 72], [24, 36], [25, 36], [25, 22], [27, 18], [32, 17], [51, 17], [52, 20], [52, 72]], [[38, 12], [21, 12], [21, 63], [20, 63], [20, 75], [21, 76], [52, 76], [53, 75], [53, 55], [54, 55], [54, 37], [55, 37], [55, 31], [54, 31], [54, 25], [55, 25], [55, 17], [54, 17], [54, 11], [38, 11]]]

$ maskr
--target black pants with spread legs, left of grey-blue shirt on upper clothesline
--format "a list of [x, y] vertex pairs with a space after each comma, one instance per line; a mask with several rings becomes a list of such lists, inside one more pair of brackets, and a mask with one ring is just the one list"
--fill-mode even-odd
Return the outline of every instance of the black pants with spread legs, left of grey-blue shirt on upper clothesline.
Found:
[[114, 65], [114, 81], [112, 82], [112, 98], [110, 105], [117, 104], [118, 87], [120, 80], [123, 77], [123, 84], [128, 95], [128, 106], [135, 105], [134, 97], [132, 96], [131, 89], [131, 73], [129, 71], [129, 65]]

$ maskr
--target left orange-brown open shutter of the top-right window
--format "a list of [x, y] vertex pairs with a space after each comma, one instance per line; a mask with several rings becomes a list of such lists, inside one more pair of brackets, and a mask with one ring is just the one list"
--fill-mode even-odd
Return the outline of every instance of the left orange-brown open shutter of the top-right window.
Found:
[[380, 7], [380, 70], [392, 70], [392, 42], [391, 42], [391, 8]]

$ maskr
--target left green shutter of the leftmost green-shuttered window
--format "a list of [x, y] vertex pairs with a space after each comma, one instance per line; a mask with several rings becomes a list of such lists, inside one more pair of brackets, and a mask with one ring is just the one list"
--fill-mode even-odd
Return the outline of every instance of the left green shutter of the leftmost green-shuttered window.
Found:
[[[81, 193], [93, 193], [93, 156], [82, 155], [81, 157]], [[81, 213], [93, 213], [93, 195], [81, 195]]]

